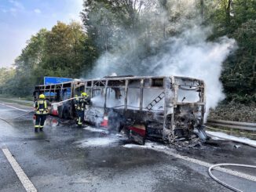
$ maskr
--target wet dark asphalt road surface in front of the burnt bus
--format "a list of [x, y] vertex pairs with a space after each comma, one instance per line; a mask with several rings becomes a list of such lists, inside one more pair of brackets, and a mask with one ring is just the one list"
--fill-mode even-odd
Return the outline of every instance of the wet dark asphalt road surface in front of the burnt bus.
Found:
[[[235, 148], [237, 143], [168, 148], [147, 141], [140, 147], [104, 129], [79, 129], [71, 121], [55, 126], [52, 118], [44, 132], [35, 133], [32, 114], [13, 119], [24, 113], [0, 103], [0, 118], [5, 119], [0, 120], [0, 148], [10, 151], [38, 191], [229, 191], [208, 176], [206, 167], [164, 150], [209, 163], [256, 165], [256, 149]], [[237, 170], [256, 175], [255, 170]], [[218, 171], [214, 175], [240, 190], [256, 189], [251, 180]], [[26, 191], [2, 150], [0, 191]]]

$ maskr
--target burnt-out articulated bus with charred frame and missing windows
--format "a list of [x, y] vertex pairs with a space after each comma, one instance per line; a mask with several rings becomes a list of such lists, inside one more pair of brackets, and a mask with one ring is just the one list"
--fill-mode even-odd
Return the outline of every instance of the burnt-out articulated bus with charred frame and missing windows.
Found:
[[[35, 100], [45, 93], [52, 103], [86, 92], [90, 105], [85, 121], [128, 134], [130, 139], [144, 144], [145, 139], [160, 139], [166, 143], [177, 140], [205, 141], [203, 118], [206, 98], [202, 80], [177, 76], [107, 76], [75, 82], [35, 87]], [[53, 115], [75, 118], [74, 102], [57, 107]]]

